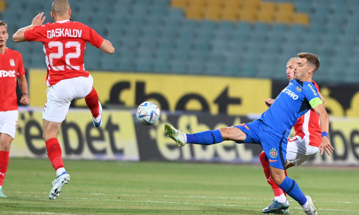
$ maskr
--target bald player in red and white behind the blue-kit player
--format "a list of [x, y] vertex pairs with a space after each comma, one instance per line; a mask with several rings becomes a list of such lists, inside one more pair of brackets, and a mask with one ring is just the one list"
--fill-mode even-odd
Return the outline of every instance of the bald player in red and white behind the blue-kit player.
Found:
[[[287, 63], [287, 78], [290, 81], [293, 79], [294, 66], [296, 65], [297, 57], [291, 58]], [[315, 88], [319, 93], [318, 85], [314, 83]], [[321, 93], [319, 93], [323, 103], [325, 99]], [[270, 106], [274, 99], [266, 99], [265, 103]], [[298, 166], [304, 163], [309, 158], [313, 157], [319, 152], [319, 145], [321, 144], [321, 124], [319, 116], [310, 109], [306, 114], [301, 116], [295, 123], [294, 137], [288, 138], [287, 144], [287, 163], [285, 169]], [[274, 200], [271, 205], [262, 210], [263, 213], [274, 213], [274, 214], [289, 214], [288, 209], [284, 209], [289, 205], [284, 191], [273, 182], [269, 171], [269, 160], [265, 153], [262, 152], [260, 160], [264, 168], [268, 184], [272, 186], [274, 192]]]

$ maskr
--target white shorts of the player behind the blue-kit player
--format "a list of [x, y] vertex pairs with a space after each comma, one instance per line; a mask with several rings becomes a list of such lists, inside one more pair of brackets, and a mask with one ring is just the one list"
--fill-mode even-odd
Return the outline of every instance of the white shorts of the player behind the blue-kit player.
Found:
[[287, 162], [299, 166], [319, 152], [319, 147], [308, 145], [300, 136], [288, 139]]

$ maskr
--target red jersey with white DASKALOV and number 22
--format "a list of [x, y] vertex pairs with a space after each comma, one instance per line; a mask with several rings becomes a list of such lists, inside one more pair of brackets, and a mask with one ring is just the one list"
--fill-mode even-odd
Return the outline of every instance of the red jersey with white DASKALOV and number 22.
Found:
[[99, 48], [104, 41], [92, 28], [70, 20], [36, 26], [26, 30], [24, 36], [27, 41], [44, 44], [48, 86], [64, 79], [88, 77], [84, 67], [86, 42]]

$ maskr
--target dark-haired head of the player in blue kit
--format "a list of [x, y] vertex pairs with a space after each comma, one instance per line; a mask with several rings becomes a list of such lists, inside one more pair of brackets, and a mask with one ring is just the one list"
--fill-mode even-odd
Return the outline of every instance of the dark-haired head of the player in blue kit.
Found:
[[314, 72], [318, 70], [321, 63], [317, 55], [312, 53], [298, 53], [298, 59], [294, 67], [294, 79], [311, 79]]

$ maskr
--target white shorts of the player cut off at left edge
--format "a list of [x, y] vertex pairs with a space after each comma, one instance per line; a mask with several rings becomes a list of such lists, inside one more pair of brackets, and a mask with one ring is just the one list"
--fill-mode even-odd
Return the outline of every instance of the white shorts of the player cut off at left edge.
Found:
[[18, 111], [0, 112], [0, 133], [8, 134], [15, 138]]

